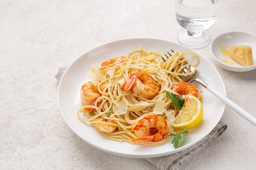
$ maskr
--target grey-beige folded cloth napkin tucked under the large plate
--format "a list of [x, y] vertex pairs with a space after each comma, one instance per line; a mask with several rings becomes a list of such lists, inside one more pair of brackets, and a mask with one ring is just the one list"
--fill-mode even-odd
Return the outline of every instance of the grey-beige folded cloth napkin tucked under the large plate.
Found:
[[[67, 69], [68, 66], [59, 68], [58, 73], [55, 75], [55, 78], [59, 81], [62, 74]], [[200, 142], [190, 147], [189, 149], [180, 151], [169, 156], [163, 156], [158, 158], [148, 158], [146, 160], [155, 164], [160, 170], [180, 170], [183, 165], [185, 165], [199, 150], [208, 146], [213, 142], [214, 139], [220, 137], [227, 129], [227, 125], [220, 121], [218, 125], [212, 130], [209, 135], [207, 135]]]

